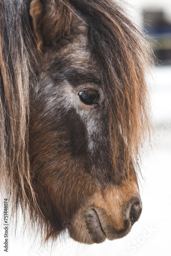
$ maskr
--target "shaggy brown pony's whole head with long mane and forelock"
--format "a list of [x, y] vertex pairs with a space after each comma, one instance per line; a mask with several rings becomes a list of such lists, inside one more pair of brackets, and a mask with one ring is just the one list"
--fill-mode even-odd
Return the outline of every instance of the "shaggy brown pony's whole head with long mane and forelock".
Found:
[[111, 0], [1, 0], [1, 190], [56, 239], [125, 236], [142, 205], [144, 36]]

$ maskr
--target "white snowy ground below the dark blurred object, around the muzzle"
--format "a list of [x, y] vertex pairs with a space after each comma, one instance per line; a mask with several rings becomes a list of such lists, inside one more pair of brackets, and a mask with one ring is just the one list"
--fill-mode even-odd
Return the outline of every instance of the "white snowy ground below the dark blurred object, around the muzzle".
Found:
[[[146, 150], [142, 162], [140, 191], [143, 211], [131, 232], [120, 240], [105, 241], [91, 246], [71, 239], [40, 247], [39, 242], [18, 232], [9, 233], [9, 256], [171, 256], [171, 67], [155, 69], [152, 106], [156, 133], [153, 150]], [[12, 226], [12, 223], [10, 223]], [[0, 255], [3, 251], [4, 230], [0, 230]]]

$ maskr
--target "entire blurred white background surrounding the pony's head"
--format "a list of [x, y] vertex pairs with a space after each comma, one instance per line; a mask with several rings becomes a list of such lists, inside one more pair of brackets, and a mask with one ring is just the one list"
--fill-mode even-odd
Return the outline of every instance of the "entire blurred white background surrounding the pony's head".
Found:
[[[27, 234], [23, 237], [18, 230], [14, 238], [11, 232], [9, 256], [171, 256], [171, 1], [129, 0], [129, 3], [133, 7], [127, 5], [127, 9], [132, 12], [136, 22], [159, 41], [160, 45], [154, 47], [154, 50], [157, 49], [156, 54], [162, 60], [159, 60], [159, 65], [152, 70], [151, 99], [155, 133], [152, 136], [152, 149], [146, 148], [141, 166], [141, 217], [125, 238], [91, 246], [78, 244], [69, 238], [63, 242], [58, 241], [53, 247], [50, 243], [40, 246], [38, 240], [32, 246], [34, 240], [27, 237]], [[152, 20], [152, 25], [146, 25], [146, 20], [150, 20], [150, 17], [147, 15], [143, 23], [140, 22], [145, 15], [141, 12], [152, 12], [155, 20], [159, 16], [164, 21], [160, 20], [161, 24], [156, 22], [155, 25]], [[6, 255], [2, 243], [3, 233], [0, 239], [0, 254]]]

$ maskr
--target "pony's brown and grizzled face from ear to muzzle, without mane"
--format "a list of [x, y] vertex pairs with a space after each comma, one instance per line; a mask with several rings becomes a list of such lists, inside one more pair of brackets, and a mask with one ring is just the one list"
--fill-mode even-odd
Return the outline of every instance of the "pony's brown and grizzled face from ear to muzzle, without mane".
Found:
[[53, 34], [47, 39], [47, 28], [36, 27], [36, 12], [41, 9], [37, 3], [32, 2], [30, 13], [43, 50], [38, 86], [31, 90], [29, 148], [48, 236], [68, 228], [82, 243], [121, 238], [138, 220], [142, 206], [133, 164], [124, 169], [126, 144], [121, 133], [114, 165], [114, 106], [89, 46], [89, 26], [76, 10], [72, 17], [67, 13], [68, 25], [63, 22], [56, 32], [62, 35], [53, 44]]

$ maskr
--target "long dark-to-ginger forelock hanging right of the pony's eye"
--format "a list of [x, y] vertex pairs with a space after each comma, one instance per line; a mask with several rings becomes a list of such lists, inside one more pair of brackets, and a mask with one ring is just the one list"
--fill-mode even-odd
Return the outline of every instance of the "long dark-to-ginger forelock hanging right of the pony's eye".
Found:
[[144, 34], [116, 2], [70, 0], [70, 3], [89, 25], [89, 45], [101, 72], [110, 110], [114, 168], [119, 167], [121, 150], [124, 169], [129, 169], [137, 161], [151, 127], [146, 72], [153, 62], [153, 53]]

